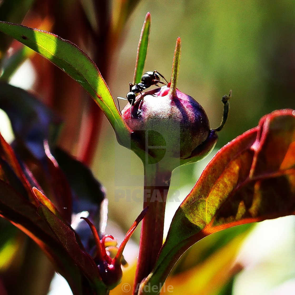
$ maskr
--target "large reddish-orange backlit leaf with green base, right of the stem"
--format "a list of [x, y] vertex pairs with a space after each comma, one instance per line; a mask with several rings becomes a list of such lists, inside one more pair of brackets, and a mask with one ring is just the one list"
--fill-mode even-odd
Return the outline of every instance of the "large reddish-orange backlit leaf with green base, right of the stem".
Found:
[[[191, 245], [214, 232], [295, 214], [295, 111], [275, 111], [225, 145], [177, 209], [155, 268], [159, 286]], [[144, 294], [144, 289], [142, 293]], [[158, 294], [149, 293], [149, 294]]]

